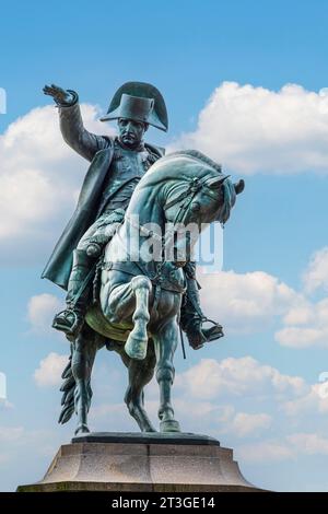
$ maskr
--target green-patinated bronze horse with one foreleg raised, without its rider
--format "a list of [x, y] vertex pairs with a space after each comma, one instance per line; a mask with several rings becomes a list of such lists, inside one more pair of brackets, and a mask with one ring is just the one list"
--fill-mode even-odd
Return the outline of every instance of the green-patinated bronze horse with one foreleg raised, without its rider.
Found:
[[[118, 353], [128, 369], [125, 402], [141, 432], [156, 432], [143, 393], [154, 373], [160, 432], [180, 432], [171, 394], [186, 290], [181, 267], [191, 258], [200, 231], [213, 221], [225, 223], [243, 189], [243, 180], [233, 184], [219, 164], [192, 150], [161, 157], [142, 176], [124, 222], [105, 247], [98, 302], [90, 305], [62, 373], [59, 422], [66, 423], [75, 411], [77, 435], [90, 432], [92, 366], [103, 347]], [[198, 229], [194, 238], [180, 230], [190, 224]], [[175, 232], [183, 235], [173, 237]], [[164, 255], [167, 241], [174, 241], [169, 258]], [[150, 258], [150, 242], [157, 245], [156, 259]]]

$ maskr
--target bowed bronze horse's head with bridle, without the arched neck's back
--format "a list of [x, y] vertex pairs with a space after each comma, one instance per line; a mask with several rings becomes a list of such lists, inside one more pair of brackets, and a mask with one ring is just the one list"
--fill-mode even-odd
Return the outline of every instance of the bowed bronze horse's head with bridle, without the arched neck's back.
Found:
[[188, 151], [177, 159], [181, 165], [178, 180], [171, 180], [166, 188], [164, 212], [171, 225], [168, 233], [174, 240], [174, 260], [181, 265], [190, 259], [192, 247], [200, 232], [213, 221], [224, 224], [244, 190], [244, 180], [233, 184], [221, 167], [199, 152]]

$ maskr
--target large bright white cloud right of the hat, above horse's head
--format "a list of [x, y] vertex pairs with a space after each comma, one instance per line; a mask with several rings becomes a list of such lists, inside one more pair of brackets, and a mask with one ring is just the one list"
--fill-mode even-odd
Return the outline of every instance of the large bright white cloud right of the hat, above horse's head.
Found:
[[328, 95], [286, 84], [280, 91], [223, 82], [194, 132], [174, 149], [196, 148], [225, 168], [253, 173], [328, 172]]

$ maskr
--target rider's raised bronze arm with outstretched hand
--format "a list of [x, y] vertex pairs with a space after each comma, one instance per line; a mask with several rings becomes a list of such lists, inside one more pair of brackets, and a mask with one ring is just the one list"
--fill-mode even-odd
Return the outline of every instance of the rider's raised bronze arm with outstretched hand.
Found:
[[89, 132], [84, 126], [75, 91], [56, 84], [45, 85], [44, 93], [52, 96], [59, 110], [60, 130], [65, 141], [87, 161], [110, 144], [109, 138]]

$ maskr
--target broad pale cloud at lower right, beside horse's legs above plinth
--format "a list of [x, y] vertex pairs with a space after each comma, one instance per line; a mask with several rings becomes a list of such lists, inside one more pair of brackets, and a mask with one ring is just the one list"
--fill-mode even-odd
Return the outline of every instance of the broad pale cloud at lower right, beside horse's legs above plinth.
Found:
[[263, 431], [285, 436], [291, 428], [304, 431], [309, 423], [309, 429], [325, 431], [327, 425], [328, 372], [309, 384], [250, 355], [203, 359], [177, 375], [175, 392], [177, 410], [191, 427], [225, 436], [249, 437]]

